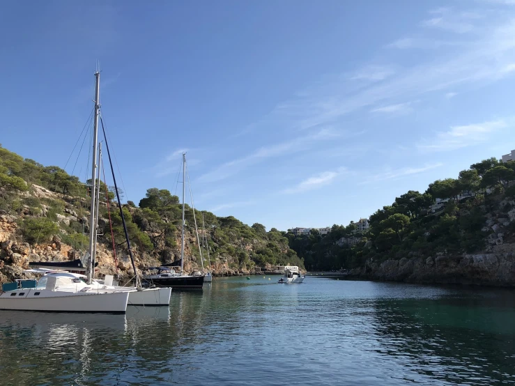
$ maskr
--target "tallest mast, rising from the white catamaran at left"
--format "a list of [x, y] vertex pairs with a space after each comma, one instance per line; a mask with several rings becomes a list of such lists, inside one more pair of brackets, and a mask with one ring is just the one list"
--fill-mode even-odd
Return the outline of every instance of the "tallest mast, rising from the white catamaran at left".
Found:
[[97, 169], [97, 140], [98, 140], [98, 109], [100, 108], [100, 71], [95, 72], [95, 116], [93, 118], [93, 164], [91, 165], [91, 215], [89, 216], [89, 258], [88, 258], [88, 280], [87, 284], [91, 284], [93, 277], [93, 254], [95, 253], [95, 238], [93, 226], [95, 226], [95, 187], [96, 187], [96, 169]]

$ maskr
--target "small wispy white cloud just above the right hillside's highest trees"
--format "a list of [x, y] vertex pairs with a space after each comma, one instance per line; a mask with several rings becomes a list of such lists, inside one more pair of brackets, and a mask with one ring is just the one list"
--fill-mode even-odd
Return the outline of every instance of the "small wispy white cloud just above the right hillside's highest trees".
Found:
[[426, 151], [444, 151], [477, 145], [486, 141], [491, 132], [506, 127], [507, 123], [504, 120], [452, 126], [445, 132], [438, 132], [434, 139], [421, 141], [417, 144], [417, 148]]

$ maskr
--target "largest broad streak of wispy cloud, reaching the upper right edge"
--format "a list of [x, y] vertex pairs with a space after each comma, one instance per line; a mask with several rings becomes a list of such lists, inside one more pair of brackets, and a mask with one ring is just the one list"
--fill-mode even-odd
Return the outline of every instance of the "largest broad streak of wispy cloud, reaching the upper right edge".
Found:
[[[453, 15], [450, 10], [445, 12], [446, 20], [467, 20], [470, 24], [477, 16]], [[511, 76], [513, 72], [507, 69], [515, 63], [515, 17], [502, 13], [492, 13], [489, 17], [489, 22], [482, 20], [478, 24], [477, 33], [466, 36], [466, 43], [449, 40], [456, 43], [456, 49], [436, 56], [434, 60], [406, 68], [396, 66], [392, 75], [387, 70], [364, 65], [351, 75], [346, 72], [345, 77], [324, 77], [305, 90], [302, 93], [305, 96], [279, 104], [267, 117], [266, 123], [276, 122], [284, 127], [286, 122], [291, 130], [307, 130], [317, 125], [334, 124], [343, 116], [363, 108], [392, 104], [399, 98], [414, 99], [431, 91], [448, 90], [463, 84], [488, 84]], [[440, 26], [441, 23], [432, 22]], [[410, 42], [401, 43], [406, 45]], [[371, 82], [374, 79], [381, 79], [381, 82]]]

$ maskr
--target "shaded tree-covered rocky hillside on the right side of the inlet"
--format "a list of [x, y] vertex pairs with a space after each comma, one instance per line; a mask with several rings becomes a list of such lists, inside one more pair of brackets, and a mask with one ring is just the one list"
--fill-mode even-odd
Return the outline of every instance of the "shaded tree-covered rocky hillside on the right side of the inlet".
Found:
[[463, 259], [481, 255], [505, 261], [496, 275], [515, 281], [515, 162], [492, 157], [472, 164], [458, 178], [402, 194], [371, 215], [369, 223], [364, 233], [334, 225], [325, 236], [312, 231], [287, 237], [307, 270], [344, 269], [376, 277], [387, 265], [400, 269], [409, 258], [433, 268], [445, 261], [458, 269]]

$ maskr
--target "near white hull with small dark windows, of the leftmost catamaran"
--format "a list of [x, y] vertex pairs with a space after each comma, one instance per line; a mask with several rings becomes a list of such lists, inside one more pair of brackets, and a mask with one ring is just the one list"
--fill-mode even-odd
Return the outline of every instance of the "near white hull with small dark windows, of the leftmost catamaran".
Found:
[[82, 294], [31, 288], [3, 293], [0, 309], [125, 314], [128, 300], [128, 292]]

